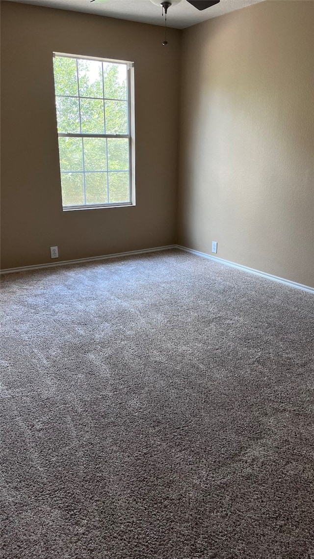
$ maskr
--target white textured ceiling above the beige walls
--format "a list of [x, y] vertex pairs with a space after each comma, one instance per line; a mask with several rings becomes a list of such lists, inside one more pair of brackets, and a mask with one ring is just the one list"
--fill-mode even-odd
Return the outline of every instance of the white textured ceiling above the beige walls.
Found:
[[[164, 25], [164, 18], [161, 17], [161, 7], [155, 6], [150, 0], [106, 0], [99, 3], [91, 2], [90, 0], [9, 1], [58, 8], [59, 10], [94, 13], [99, 16], [116, 17], [121, 20], [140, 21], [142, 23], [152, 23], [153, 25]], [[221, 16], [223, 13], [233, 12], [258, 2], [263, 2], [263, 0], [220, 0], [219, 4], [207, 8], [207, 10], [199, 11], [185, 0], [182, 0], [182, 2], [169, 8], [167, 23], [169, 27], [184, 29], [201, 21]]]

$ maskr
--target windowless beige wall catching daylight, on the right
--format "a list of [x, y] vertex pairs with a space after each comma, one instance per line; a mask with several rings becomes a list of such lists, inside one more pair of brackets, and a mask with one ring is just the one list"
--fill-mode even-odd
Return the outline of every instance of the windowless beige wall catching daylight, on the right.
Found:
[[314, 2], [183, 32], [178, 243], [314, 287]]

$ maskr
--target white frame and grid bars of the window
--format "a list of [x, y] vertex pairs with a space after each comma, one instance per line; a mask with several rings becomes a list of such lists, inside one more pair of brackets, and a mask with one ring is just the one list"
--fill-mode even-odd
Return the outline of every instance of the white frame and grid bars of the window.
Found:
[[[57, 124], [57, 132], [58, 132], [58, 140], [59, 138], [125, 138], [129, 141], [129, 201], [128, 202], [105, 202], [101, 204], [87, 204], [86, 202], [82, 205], [77, 206], [64, 206], [62, 200], [62, 209], [63, 211], [75, 211], [75, 210], [94, 210], [94, 209], [103, 209], [103, 208], [110, 208], [110, 207], [129, 207], [135, 206], [135, 103], [134, 103], [134, 62], [129, 60], [116, 60], [111, 58], [101, 58], [98, 56], [87, 56], [87, 55], [77, 55], [77, 54], [67, 54], [67, 53], [58, 53], [56, 51], [53, 52], [53, 58], [63, 57], [63, 58], [71, 58], [74, 60], [96, 60], [98, 62], [108, 62], [112, 64], [125, 64], [127, 69], [127, 134], [85, 134], [84, 132], [59, 132], [58, 124]], [[78, 71], [78, 70], [77, 70]], [[78, 74], [77, 74], [78, 75]], [[55, 91], [55, 100], [57, 97], [73, 97], [73, 96], [58, 96], [55, 90], [55, 82], [54, 82], [54, 91]], [[79, 94], [79, 81], [78, 81], [78, 99], [81, 98], [91, 98], [88, 96], [80, 96]], [[101, 99], [101, 97], [99, 97]], [[106, 101], [106, 98], [102, 98]], [[120, 101], [120, 100], [113, 100], [113, 101]], [[124, 100], [121, 100], [124, 101]], [[79, 115], [80, 119], [80, 115]], [[81, 125], [80, 125], [81, 127]], [[58, 153], [59, 153], [59, 141], [58, 141]], [[108, 159], [107, 159], [108, 165]], [[59, 171], [60, 171], [60, 186], [61, 186], [61, 167], [60, 167], [60, 153], [59, 153]], [[83, 167], [83, 177], [84, 177], [84, 201], [86, 200], [85, 196], [85, 171]], [[108, 173], [110, 171], [107, 168], [107, 178]], [[108, 184], [108, 182], [107, 182]], [[107, 191], [107, 196], [109, 196], [109, 190]], [[62, 199], [62, 186], [61, 186], [61, 199]]]

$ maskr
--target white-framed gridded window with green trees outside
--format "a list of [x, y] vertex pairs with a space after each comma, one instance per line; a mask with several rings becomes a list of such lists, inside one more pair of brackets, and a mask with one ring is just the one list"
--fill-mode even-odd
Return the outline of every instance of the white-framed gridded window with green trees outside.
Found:
[[54, 53], [64, 210], [135, 203], [131, 62]]

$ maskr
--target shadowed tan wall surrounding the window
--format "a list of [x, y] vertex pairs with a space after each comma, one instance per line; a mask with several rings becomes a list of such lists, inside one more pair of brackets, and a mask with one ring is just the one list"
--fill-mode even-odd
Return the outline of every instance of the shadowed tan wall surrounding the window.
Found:
[[[180, 32], [9, 2], [1, 21], [2, 268], [174, 243]], [[134, 60], [135, 207], [62, 211], [53, 51]]]

